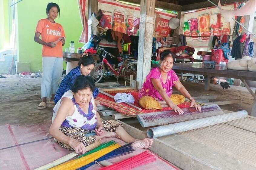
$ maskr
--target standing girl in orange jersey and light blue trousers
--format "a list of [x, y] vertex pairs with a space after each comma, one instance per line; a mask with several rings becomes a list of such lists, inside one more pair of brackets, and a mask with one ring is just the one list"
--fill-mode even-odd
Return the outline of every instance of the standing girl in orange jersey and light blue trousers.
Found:
[[[46, 19], [38, 21], [34, 41], [43, 45], [43, 77], [41, 85], [42, 102], [38, 109], [47, 107], [47, 98], [49, 103], [54, 103], [54, 94], [58, 89], [62, 74], [62, 46], [65, 44], [65, 33], [61, 24], [54, 20], [60, 15], [60, 7], [56, 3], [49, 3], [46, 7]], [[41, 39], [39, 38], [41, 35]]]

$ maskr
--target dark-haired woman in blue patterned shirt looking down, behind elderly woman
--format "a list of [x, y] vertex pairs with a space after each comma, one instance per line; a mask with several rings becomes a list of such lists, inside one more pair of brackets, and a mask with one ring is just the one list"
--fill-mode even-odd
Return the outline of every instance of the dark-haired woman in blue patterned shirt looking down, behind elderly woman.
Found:
[[[64, 93], [69, 91], [71, 89], [71, 86], [74, 83], [74, 80], [79, 75], [87, 76], [90, 74], [91, 70], [94, 69], [94, 59], [92, 58], [91, 53], [87, 53], [87, 56], [81, 57], [78, 66], [74, 69], [72, 69], [67, 76], [64, 77], [64, 79], [61, 81], [60, 87], [58, 88], [55, 96], [54, 96], [54, 103], [56, 104]], [[99, 94], [98, 88], [95, 88], [93, 91], [93, 97], [97, 97]]]

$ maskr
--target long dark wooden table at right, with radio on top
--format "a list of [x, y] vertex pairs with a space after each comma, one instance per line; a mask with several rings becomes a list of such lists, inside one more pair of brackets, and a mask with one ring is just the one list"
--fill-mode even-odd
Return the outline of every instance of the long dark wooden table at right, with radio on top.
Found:
[[216, 64], [215, 69], [206, 69], [204, 68], [203, 63], [194, 62], [194, 63], [175, 63], [172, 67], [172, 70], [175, 72], [186, 72], [193, 74], [203, 74], [205, 77], [205, 90], [210, 90], [210, 77], [219, 76], [219, 77], [229, 77], [240, 79], [248, 91], [254, 97], [254, 103], [252, 107], [251, 116], [256, 116], [256, 91], [255, 93], [251, 90], [245, 80], [256, 81], [256, 72], [251, 71], [239, 71], [239, 70], [229, 70], [227, 66], [221, 66]]

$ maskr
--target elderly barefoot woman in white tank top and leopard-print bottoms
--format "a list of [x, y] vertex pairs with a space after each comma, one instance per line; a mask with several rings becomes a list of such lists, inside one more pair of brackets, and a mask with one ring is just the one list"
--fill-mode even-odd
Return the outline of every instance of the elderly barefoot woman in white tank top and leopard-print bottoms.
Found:
[[[92, 96], [94, 88], [91, 77], [78, 76], [71, 90], [67, 91], [55, 105], [49, 134], [57, 140], [58, 144], [82, 154], [86, 152], [86, 146], [108, 137], [117, 137], [127, 143], [133, 143], [133, 147], [151, 147], [153, 139], [135, 139], [123, 129], [121, 123], [100, 119]], [[90, 130], [95, 130], [95, 135], [85, 135], [86, 131]]]

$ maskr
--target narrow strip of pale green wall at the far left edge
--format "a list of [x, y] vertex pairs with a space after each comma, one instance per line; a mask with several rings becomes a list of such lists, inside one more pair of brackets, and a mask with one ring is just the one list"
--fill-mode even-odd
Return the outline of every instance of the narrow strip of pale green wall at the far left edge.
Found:
[[9, 47], [9, 1], [0, 0], [0, 50]]

